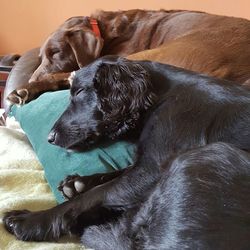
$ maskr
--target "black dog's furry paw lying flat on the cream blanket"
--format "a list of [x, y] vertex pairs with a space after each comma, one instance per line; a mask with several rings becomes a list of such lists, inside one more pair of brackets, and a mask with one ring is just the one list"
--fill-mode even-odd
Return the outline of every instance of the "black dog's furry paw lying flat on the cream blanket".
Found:
[[4, 226], [19, 240], [57, 240], [63, 233], [62, 222], [59, 220], [60, 218], [46, 213], [47, 211], [14, 210], [7, 212], [3, 218]]

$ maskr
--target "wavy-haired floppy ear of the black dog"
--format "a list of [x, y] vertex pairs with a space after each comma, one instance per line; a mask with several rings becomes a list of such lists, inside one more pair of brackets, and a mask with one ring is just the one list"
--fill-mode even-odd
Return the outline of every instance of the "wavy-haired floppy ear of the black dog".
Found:
[[102, 109], [112, 117], [138, 113], [155, 101], [147, 70], [126, 59], [104, 61], [97, 70], [95, 88]]

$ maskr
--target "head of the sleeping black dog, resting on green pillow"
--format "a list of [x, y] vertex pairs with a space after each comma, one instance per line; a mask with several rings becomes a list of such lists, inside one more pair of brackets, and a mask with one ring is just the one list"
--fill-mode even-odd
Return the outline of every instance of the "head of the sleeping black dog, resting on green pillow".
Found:
[[150, 76], [139, 62], [103, 57], [71, 78], [70, 104], [48, 138], [67, 149], [86, 149], [100, 138], [136, 129], [154, 103]]

